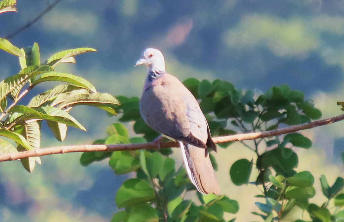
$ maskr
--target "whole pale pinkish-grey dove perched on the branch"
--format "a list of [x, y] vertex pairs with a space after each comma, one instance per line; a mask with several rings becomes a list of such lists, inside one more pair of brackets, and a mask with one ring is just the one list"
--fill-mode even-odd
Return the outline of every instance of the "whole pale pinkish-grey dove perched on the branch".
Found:
[[192, 93], [166, 73], [164, 56], [147, 48], [137, 65], [147, 65], [147, 77], [140, 99], [143, 120], [155, 131], [180, 143], [187, 174], [203, 194], [220, 193], [207, 147], [216, 151], [208, 123]]

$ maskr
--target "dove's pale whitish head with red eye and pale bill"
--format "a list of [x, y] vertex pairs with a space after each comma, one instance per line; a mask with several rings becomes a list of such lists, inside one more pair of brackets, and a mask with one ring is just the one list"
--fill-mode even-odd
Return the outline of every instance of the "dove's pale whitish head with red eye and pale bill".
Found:
[[165, 72], [165, 58], [162, 53], [155, 48], [147, 48], [141, 53], [140, 59], [135, 66], [146, 65], [149, 71]]

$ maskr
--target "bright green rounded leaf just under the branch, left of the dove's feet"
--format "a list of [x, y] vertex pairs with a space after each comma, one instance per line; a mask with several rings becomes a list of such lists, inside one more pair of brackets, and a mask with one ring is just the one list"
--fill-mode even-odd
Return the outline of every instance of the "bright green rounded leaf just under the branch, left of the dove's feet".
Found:
[[117, 175], [127, 174], [140, 168], [140, 161], [130, 151], [113, 152], [109, 165]]

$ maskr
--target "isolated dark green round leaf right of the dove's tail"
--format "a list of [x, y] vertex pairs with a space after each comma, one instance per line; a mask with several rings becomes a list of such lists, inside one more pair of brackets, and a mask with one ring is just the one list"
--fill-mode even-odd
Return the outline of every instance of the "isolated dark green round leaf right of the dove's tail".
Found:
[[252, 162], [248, 159], [239, 159], [230, 167], [229, 174], [233, 184], [240, 186], [247, 184], [252, 171]]

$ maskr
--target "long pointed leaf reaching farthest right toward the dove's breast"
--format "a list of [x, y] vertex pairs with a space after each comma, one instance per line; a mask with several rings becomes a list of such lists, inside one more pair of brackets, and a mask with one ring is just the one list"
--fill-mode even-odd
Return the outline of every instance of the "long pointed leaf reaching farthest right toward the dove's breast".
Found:
[[[90, 105], [90, 106], [96, 106], [96, 104], [104, 106], [104, 104], [114, 104], [119, 105], [119, 101], [111, 96], [109, 93], [92, 93], [90, 95], [75, 95], [73, 97], [70, 97], [60, 103], [58, 105], [59, 109], [62, 109], [66, 106], [74, 107], [77, 105]], [[115, 110], [114, 110], [115, 112]], [[116, 114], [116, 112], [115, 112]]]

